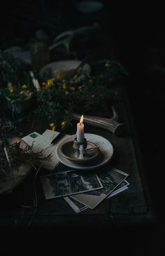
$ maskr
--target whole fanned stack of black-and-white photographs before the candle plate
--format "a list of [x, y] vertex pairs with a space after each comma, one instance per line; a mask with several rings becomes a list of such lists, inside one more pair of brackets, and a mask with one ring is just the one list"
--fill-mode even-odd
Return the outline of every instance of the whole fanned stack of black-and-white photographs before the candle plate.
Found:
[[91, 172], [67, 170], [41, 176], [46, 199], [64, 198], [76, 213], [94, 209], [103, 200], [128, 189], [129, 175], [116, 168]]

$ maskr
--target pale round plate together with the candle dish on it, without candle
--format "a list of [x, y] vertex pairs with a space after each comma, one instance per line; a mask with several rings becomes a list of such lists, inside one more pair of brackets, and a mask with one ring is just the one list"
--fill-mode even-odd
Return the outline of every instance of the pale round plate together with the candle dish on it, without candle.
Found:
[[[94, 170], [104, 166], [112, 158], [113, 145], [109, 140], [96, 134], [85, 133], [87, 147], [84, 158], [80, 159], [79, 150], [73, 147], [75, 137], [76, 135], [69, 135], [57, 144], [57, 159], [65, 166], [77, 170]], [[86, 156], [86, 154], [91, 155]]]

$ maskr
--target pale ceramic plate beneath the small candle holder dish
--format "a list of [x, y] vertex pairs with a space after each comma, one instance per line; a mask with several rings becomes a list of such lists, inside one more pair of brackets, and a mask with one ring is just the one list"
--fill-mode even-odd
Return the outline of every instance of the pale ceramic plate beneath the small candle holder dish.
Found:
[[70, 137], [67, 137], [64, 140], [62, 140], [57, 146], [57, 149], [56, 149], [57, 158], [61, 163], [64, 163], [65, 166], [69, 166], [73, 169], [79, 169], [79, 170], [92, 170], [105, 165], [112, 158], [113, 145], [108, 140], [106, 140], [105, 137], [101, 137], [99, 135], [92, 134], [92, 133], [85, 133], [85, 138], [87, 141], [93, 142], [94, 144], [99, 146], [99, 149], [101, 151], [101, 157], [99, 157], [99, 159], [96, 159], [96, 161], [94, 161], [93, 163], [88, 163], [85, 165], [80, 165], [80, 164], [76, 164], [69, 161], [68, 159], [64, 158], [64, 156], [62, 156], [60, 148], [61, 148], [61, 145], [64, 144], [64, 142], [69, 142], [71, 140], [74, 140], [75, 137], [76, 135], [71, 135]]

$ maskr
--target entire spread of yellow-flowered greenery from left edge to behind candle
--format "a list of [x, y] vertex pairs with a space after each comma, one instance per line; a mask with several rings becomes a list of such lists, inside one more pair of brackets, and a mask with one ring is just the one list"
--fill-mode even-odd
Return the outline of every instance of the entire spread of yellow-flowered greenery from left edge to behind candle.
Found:
[[94, 109], [104, 108], [117, 99], [116, 84], [127, 76], [119, 62], [106, 60], [100, 62], [99, 71], [91, 76], [77, 73], [71, 79], [48, 79], [41, 88], [31, 85], [29, 70], [20, 60], [10, 55], [0, 55], [0, 78], [3, 88], [0, 93], [8, 99], [8, 107], [13, 119], [23, 113], [24, 102], [36, 96], [38, 112], [54, 123], [56, 128], [62, 121], [71, 118], [72, 112], [92, 114]]

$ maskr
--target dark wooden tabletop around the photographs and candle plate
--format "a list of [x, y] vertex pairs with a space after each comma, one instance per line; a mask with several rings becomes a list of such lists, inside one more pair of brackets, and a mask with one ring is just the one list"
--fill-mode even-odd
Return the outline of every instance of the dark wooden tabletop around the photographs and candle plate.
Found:
[[[13, 194], [0, 196], [0, 223], [2, 226], [26, 227], [29, 221], [32, 220], [31, 217], [33, 217], [31, 221], [32, 227], [103, 226], [108, 224], [145, 225], [155, 222], [155, 214], [152, 208], [150, 191], [148, 191], [148, 185], [143, 173], [141, 154], [136, 140], [136, 130], [127, 93], [122, 87], [119, 90], [121, 99], [116, 103], [115, 108], [120, 116], [120, 121], [125, 125], [126, 133], [117, 137], [108, 130], [87, 125], [85, 125], [85, 133], [101, 135], [113, 144], [113, 159], [99, 170], [115, 167], [128, 173], [129, 189], [104, 200], [94, 210], [87, 209], [82, 213], [76, 214], [62, 198], [45, 200], [39, 176], [47, 174], [48, 170], [41, 169], [36, 178], [38, 208], [33, 217], [34, 207], [22, 208], [18, 205], [18, 202], [22, 204], [29, 203], [31, 206], [33, 204], [35, 170], [31, 170], [30, 175], [26, 177], [24, 182], [15, 187], [13, 191], [15, 198]], [[34, 130], [38, 133], [43, 133], [45, 128], [48, 128], [44, 125], [41, 126], [41, 123], [38, 123], [36, 119], [23, 123], [21, 126], [22, 130], [26, 130], [27, 134]], [[69, 134], [75, 133], [76, 123], [73, 123], [73, 128], [69, 130]], [[55, 172], [59, 170], [71, 170], [71, 168], [60, 163], [55, 168]]]

